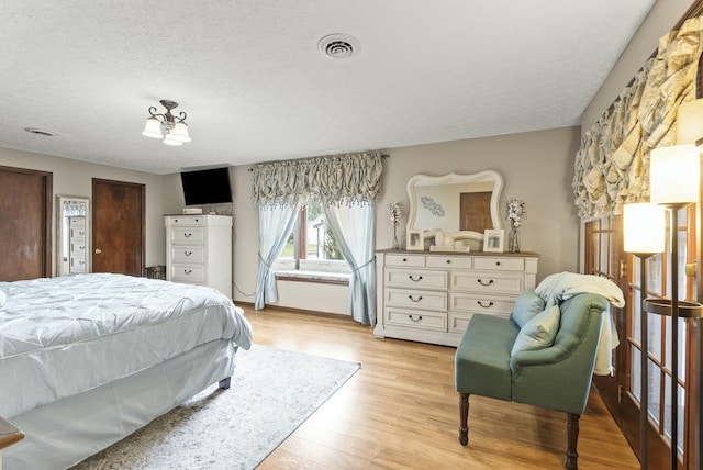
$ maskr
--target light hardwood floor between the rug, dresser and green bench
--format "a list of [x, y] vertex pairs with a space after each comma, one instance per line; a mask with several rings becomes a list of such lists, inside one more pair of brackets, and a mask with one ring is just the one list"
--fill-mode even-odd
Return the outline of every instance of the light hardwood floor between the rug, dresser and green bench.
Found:
[[[256, 344], [361, 365], [259, 469], [562, 468], [565, 413], [471, 396], [459, 445], [454, 348], [379, 339], [348, 317], [242, 306]], [[595, 390], [580, 425], [580, 469], [639, 468]]]

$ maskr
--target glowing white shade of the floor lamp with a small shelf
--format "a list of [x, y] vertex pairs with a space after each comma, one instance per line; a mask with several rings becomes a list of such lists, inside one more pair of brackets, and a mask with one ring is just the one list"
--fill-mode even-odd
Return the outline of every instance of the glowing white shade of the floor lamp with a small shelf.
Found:
[[649, 153], [649, 200], [656, 204], [699, 200], [701, 163], [694, 145], [673, 145]]

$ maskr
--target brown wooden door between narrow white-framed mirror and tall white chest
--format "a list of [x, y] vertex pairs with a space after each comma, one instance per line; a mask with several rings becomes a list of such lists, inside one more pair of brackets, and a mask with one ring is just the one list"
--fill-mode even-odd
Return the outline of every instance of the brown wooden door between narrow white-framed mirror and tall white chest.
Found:
[[92, 271], [144, 275], [145, 187], [92, 180]]

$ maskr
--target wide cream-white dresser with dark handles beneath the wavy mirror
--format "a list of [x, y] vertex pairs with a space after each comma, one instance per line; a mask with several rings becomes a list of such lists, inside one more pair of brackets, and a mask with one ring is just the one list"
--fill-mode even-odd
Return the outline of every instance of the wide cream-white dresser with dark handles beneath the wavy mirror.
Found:
[[475, 313], [510, 316], [536, 253], [376, 253], [378, 337], [457, 346]]

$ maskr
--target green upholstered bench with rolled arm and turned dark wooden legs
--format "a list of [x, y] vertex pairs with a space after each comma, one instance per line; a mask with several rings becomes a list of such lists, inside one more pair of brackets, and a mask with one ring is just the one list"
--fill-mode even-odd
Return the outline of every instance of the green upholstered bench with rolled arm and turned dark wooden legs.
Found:
[[[579, 419], [588, 402], [603, 312], [609, 302], [592, 293], [579, 293], [561, 302], [554, 321], [554, 344], [513, 351], [521, 336], [518, 323], [527, 323], [525, 315], [545, 317], [544, 306], [544, 301], [528, 290], [518, 298], [510, 318], [483, 314], [471, 317], [455, 357], [459, 443], [466, 446], [469, 441], [470, 394], [543, 406], [567, 413], [565, 466], [577, 469]], [[535, 321], [531, 323], [534, 324]], [[527, 325], [522, 329], [528, 329]]]

